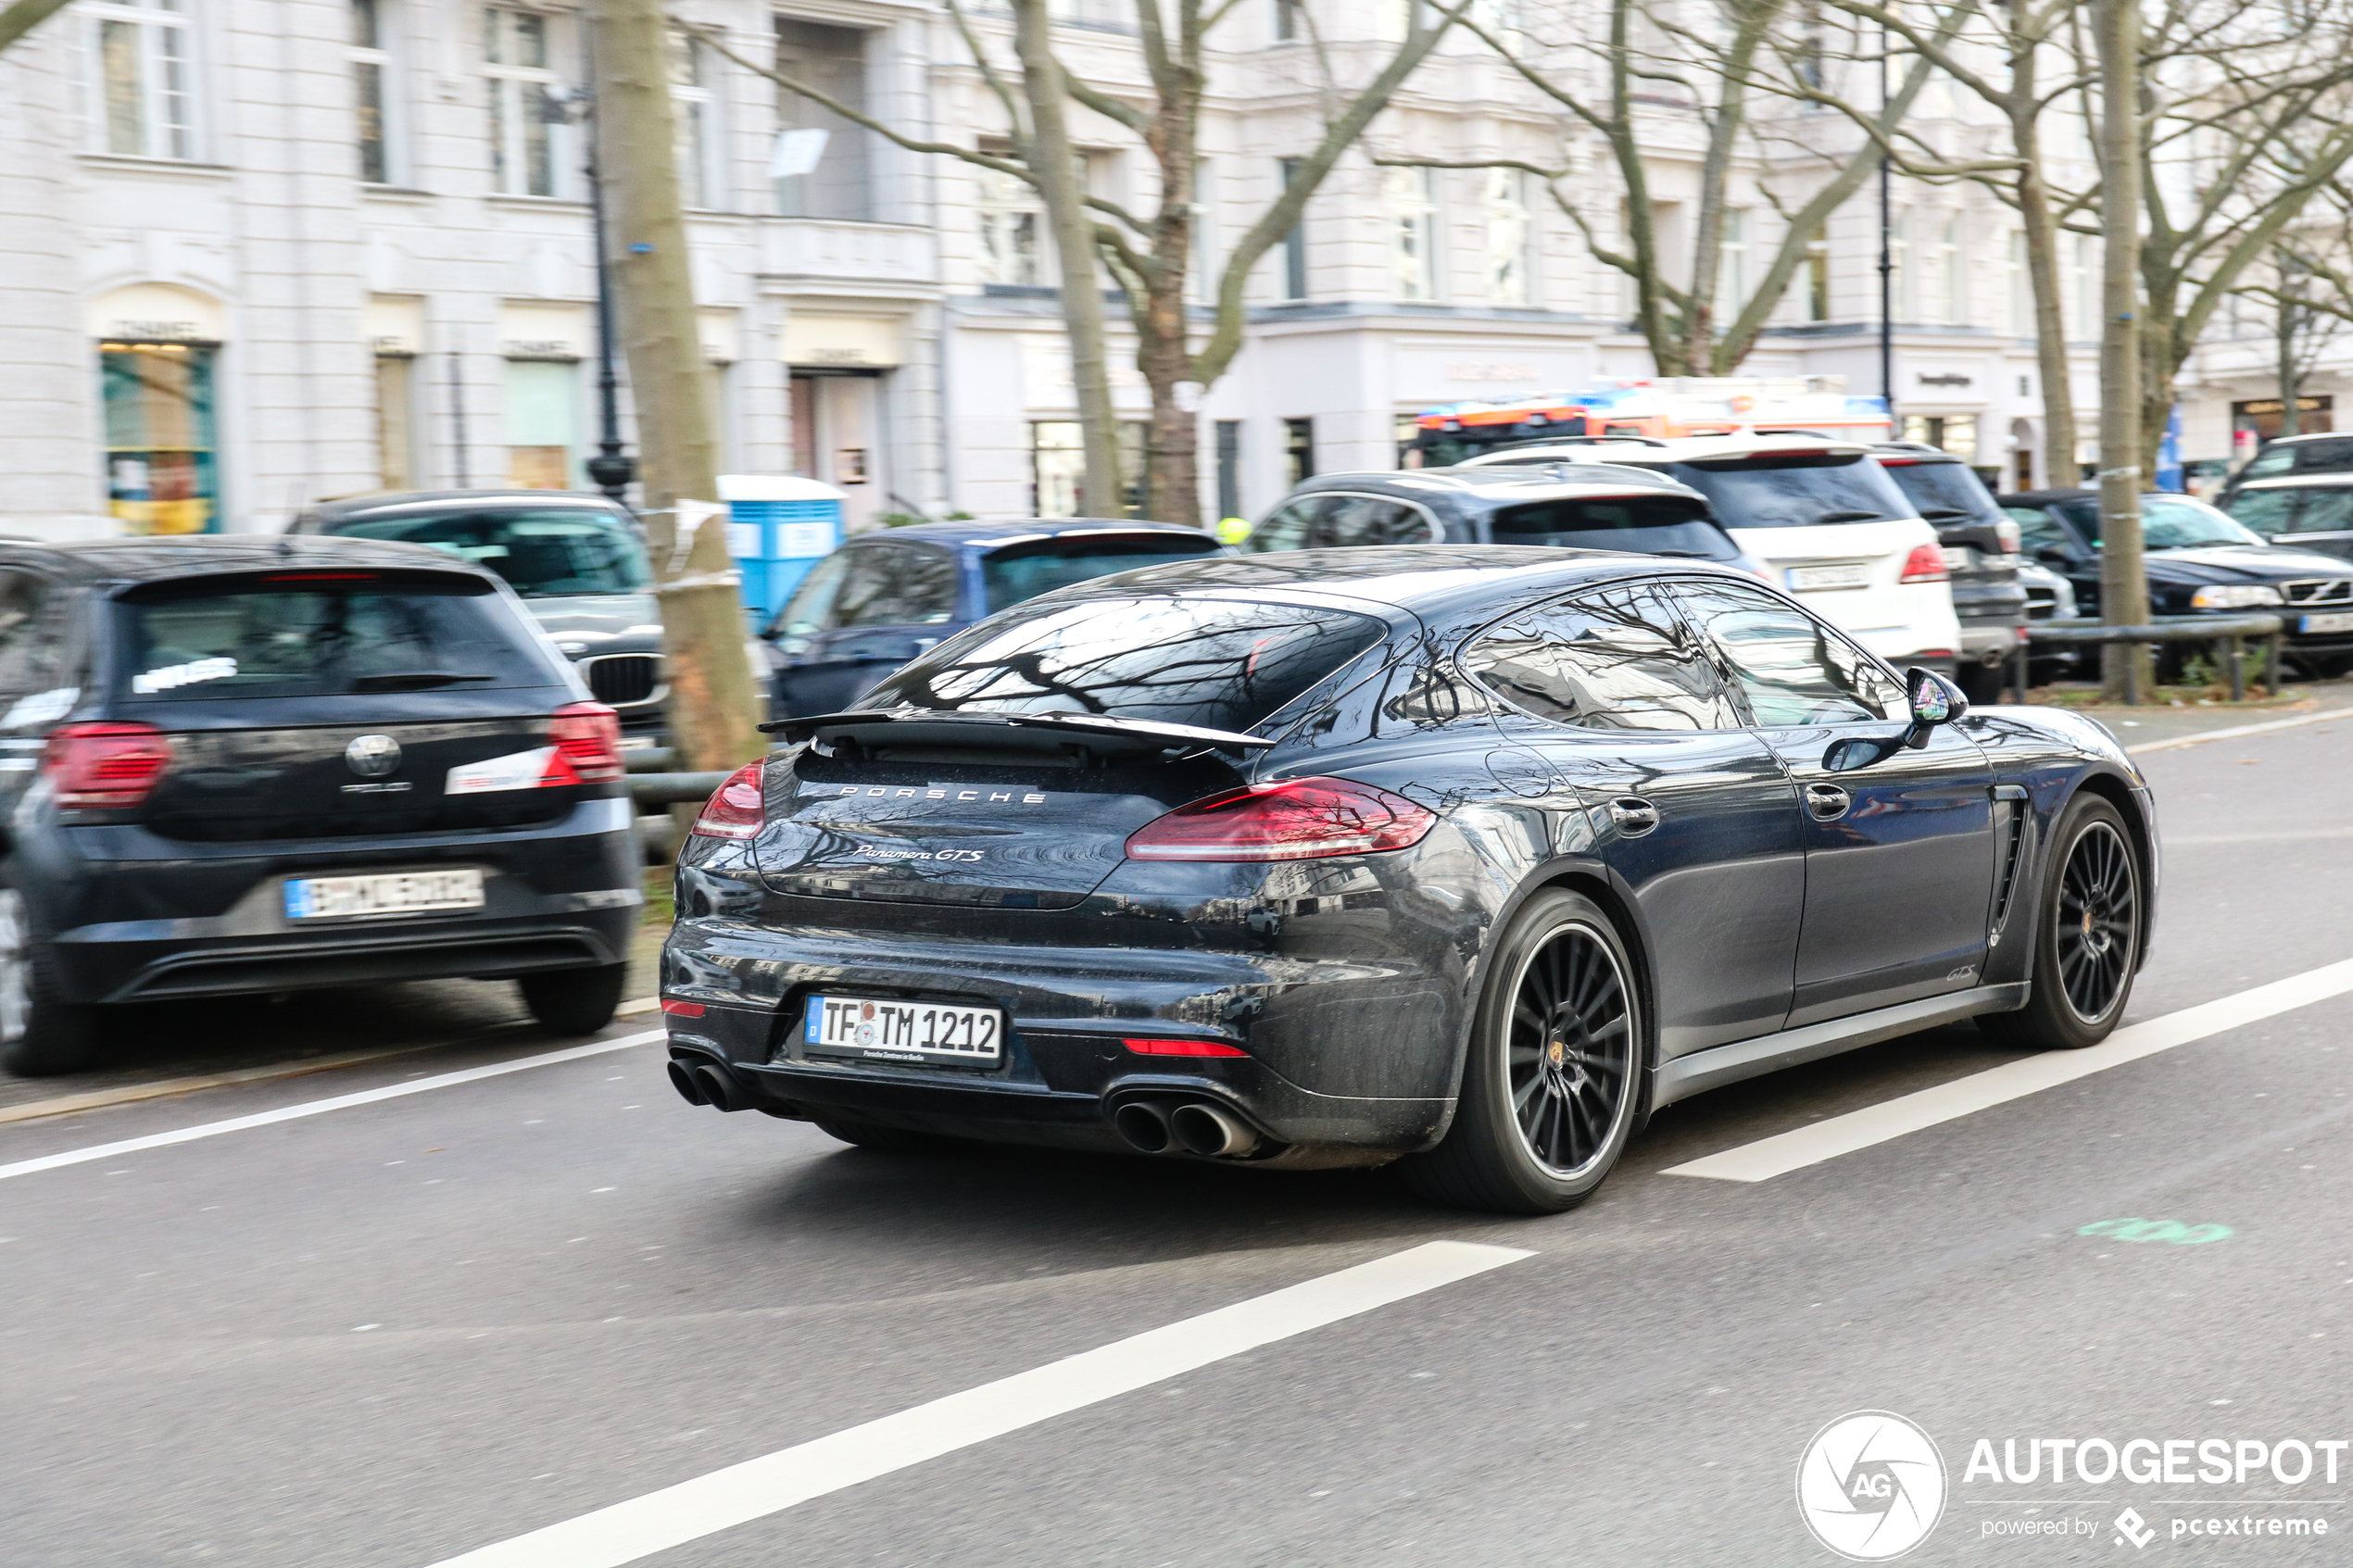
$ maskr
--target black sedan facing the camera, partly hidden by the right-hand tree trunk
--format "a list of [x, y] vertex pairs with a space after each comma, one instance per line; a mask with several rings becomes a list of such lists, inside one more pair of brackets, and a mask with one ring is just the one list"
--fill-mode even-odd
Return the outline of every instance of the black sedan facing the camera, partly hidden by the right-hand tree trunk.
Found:
[[[2099, 614], [2099, 491], [2000, 496], [2026, 550], [2066, 576], [2085, 616]], [[2353, 670], [2353, 564], [2266, 543], [2193, 496], [2141, 496], [2148, 609], [2158, 616], [2280, 611], [2289, 658], [2322, 679]], [[2181, 644], [2167, 644], [2179, 668]]]

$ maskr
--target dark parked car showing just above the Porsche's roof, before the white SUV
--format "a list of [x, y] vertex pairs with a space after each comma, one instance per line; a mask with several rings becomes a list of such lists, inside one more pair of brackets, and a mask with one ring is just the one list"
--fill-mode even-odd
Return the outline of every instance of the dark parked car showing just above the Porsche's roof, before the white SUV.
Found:
[[1591, 463], [1315, 475], [1240, 548], [1264, 555], [1421, 543], [1626, 550], [1765, 571], [1741, 555], [1689, 484], [1649, 468]]

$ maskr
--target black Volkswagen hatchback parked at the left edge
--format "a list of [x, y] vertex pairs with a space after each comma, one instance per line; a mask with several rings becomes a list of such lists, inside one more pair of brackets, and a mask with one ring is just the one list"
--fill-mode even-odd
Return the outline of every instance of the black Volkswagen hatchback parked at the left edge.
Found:
[[600, 1030], [621, 724], [489, 571], [360, 538], [0, 548], [0, 1060], [122, 1001], [513, 978]]

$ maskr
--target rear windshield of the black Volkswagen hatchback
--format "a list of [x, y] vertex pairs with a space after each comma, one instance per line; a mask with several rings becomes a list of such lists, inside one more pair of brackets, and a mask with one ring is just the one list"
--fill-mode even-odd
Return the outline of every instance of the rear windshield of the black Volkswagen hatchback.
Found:
[[115, 604], [115, 696], [344, 696], [558, 686], [506, 599], [466, 578], [289, 571]]

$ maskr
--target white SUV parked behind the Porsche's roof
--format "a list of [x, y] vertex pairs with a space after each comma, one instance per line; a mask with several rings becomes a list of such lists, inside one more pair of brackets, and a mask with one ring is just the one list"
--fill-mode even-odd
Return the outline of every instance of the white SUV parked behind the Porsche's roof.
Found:
[[1506, 447], [1461, 468], [1619, 463], [1708, 498], [1732, 541], [1781, 588], [1892, 665], [1951, 672], [1960, 649], [1937, 529], [1859, 442], [1807, 433], [1595, 437]]

